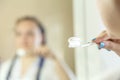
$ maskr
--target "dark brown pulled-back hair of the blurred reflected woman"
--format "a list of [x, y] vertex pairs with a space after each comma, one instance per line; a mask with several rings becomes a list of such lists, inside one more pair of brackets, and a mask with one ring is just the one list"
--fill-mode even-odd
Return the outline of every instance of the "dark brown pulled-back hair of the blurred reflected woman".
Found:
[[24, 16], [24, 17], [19, 18], [16, 21], [16, 25], [18, 25], [20, 22], [23, 22], [23, 21], [32, 21], [32, 22], [34, 22], [38, 26], [38, 28], [39, 28], [39, 30], [40, 30], [40, 32], [42, 34], [42, 38], [43, 38], [42, 39], [42, 45], [45, 45], [46, 44], [45, 29], [44, 29], [43, 25], [41, 24], [41, 22], [36, 17]]

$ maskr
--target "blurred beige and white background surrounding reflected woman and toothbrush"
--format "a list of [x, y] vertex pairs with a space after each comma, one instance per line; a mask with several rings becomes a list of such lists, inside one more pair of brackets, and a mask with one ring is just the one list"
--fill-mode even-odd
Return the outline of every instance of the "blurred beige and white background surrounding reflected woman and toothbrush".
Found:
[[[14, 54], [13, 27], [23, 15], [36, 16], [45, 26], [48, 45], [70, 66], [78, 80], [117, 67], [120, 59], [113, 52], [89, 48], [68, 48], [68, 38], [79, 36], [91, 41], [104, 25], [96, 0], [0, 0], [0, 57], [6, 61]], [[112, 66], [111, 66], [112, 65]]]

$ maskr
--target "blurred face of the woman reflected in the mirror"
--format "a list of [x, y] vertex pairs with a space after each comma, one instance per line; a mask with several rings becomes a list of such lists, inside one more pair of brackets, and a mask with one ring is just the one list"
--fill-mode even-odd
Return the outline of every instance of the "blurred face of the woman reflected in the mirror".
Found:
[[17, 49], [32, 51], [42, 42], [41, 32], [35, 22], [26, 20], [16, 25], [15, 42]]

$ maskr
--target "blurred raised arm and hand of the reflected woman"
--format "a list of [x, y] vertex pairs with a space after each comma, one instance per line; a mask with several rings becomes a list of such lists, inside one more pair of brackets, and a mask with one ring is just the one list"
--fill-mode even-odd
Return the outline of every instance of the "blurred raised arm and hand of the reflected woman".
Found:
[[51, 59], [54, 63], [54, 70], [57, 72], [55, 74], [59, 75], [60, 80], [76, 80], [75, 75], [70, 70], [68, 65], [62, 61], [58, 55], [52, 52], [47, 46], [43, 46], [40, 49], [42, 56], [47, 59]]

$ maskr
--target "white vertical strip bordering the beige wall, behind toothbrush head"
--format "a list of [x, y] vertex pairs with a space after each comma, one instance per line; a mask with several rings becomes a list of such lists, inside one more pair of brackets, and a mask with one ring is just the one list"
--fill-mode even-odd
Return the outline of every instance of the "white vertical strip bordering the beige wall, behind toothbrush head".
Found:
[[[74, 35], [85, 40], [84, 0], [73, 0]], [[87, 80], [86, 49], [75, 49], [76, 75], [78, 80]]]

